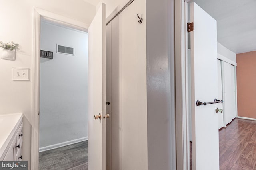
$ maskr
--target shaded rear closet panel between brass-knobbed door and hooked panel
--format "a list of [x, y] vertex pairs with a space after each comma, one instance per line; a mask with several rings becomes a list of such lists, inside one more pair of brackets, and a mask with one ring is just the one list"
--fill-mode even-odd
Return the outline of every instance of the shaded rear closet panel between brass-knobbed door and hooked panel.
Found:
[[120, 15], [106, 25], [106, 170], [120, 169]]

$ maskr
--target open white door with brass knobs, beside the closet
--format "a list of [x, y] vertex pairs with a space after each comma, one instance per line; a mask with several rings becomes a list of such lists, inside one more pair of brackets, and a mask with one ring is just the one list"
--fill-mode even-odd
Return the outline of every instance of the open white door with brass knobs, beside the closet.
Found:
[[[105, 4], [102, 4], [88, 29], [88, 170], [105, 170], [106, 166], [105, 18]], [[101, 118], [94, 119], [94, 115]]]

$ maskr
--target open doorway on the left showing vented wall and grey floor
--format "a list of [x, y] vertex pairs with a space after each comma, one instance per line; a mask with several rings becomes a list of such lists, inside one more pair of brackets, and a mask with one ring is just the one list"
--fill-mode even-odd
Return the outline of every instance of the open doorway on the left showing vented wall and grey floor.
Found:
[[39, 169], [87, 169], [88, 33], [40, 27]]

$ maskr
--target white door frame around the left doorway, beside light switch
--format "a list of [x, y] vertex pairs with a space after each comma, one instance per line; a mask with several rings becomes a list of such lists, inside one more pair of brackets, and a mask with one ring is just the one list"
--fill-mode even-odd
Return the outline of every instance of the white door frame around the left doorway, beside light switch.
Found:
[[41, 18], [88, 32], [90, 24], [83, 23], [40, 8], [33, 8], [33, 57], [31, 105], [31, 169], [39, 170], [39, 108], [40, 108], [40, 23]]

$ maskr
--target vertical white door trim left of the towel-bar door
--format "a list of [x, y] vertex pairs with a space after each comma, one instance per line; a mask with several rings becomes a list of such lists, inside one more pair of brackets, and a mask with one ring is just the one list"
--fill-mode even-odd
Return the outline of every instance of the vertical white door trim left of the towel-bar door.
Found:
[[187, 8], [187, 2], [175, 0], [176, 163], [178, 170], [190, 169]]

